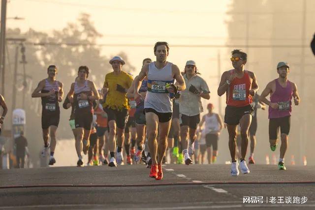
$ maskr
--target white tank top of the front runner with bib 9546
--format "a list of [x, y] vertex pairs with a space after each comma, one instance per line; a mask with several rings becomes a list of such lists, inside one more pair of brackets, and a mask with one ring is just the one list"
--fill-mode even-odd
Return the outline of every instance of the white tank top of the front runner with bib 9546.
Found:
[[166, 83], [174, 83], [172, 77], [172, 63], [158, 69], [155, 62], [149, 64], [148, 91], [144, 100], [144, 108], [151, 108], [159, 113], [173, 112], [173, 103], [165, 89]]

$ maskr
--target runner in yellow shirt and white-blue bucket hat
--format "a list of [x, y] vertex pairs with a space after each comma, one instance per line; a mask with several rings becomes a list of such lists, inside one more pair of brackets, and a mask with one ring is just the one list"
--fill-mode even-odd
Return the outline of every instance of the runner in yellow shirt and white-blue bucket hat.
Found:
[[103, 94], [107, 94], [107, 96], [105, 103], [103, 103], [103, 109], [107, 113], [109, 125], [109, 151], [111, 158], [108, 166], [116, 167], [115, 137], [117, 134], [117, 163], [122, 164], [122, 147], [125, 138], [124, 129], [129, 110], [126, 92], [130, 88], [133, 79], [122, 70], [125, 61], [121, 57], [115, 56], [109, 63], [112, 65], [113, 71], [105, 76]]

